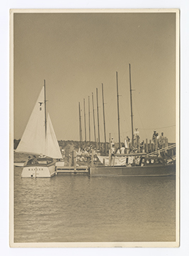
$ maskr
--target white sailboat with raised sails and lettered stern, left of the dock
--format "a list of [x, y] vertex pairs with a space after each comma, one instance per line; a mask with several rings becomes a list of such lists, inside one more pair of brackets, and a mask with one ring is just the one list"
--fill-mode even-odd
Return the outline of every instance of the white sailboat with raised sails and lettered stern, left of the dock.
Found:
[[45, 80], [16, 152], [31, 155], [23, 167], [23, 178], [52, 177], [57, 159], [62, 159], [50, 115], [46, 113]]

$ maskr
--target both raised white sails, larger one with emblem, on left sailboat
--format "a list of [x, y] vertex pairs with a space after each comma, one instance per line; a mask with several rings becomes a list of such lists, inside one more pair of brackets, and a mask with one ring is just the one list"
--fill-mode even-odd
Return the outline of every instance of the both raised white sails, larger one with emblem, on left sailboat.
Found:
[[47, 116], [47, 134], [45, 136], [44, 87], [40, 91], [16, 152], [28, 152], [38, 155], [43, 154], [52, 158], [62, 158], [49, 114]]

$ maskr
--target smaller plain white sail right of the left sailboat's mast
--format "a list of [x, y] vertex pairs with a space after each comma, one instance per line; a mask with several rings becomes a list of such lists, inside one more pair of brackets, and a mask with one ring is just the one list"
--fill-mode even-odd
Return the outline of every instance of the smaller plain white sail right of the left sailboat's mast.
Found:
[[62, 158], [62, 154], [59, 150], [57, 137], [55, 135], [55, 130], [53, 129], [49, 113], [47, 115], [46, 155], [48, 157], [57, 159]]

